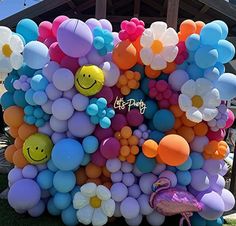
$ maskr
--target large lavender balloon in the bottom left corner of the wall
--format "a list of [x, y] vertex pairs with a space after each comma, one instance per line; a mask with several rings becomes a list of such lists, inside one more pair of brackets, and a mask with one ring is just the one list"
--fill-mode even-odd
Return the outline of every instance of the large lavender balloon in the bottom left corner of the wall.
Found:
[[10, 187], [8, 202], [14, 209], [29, 210], [39, 202], [40, 195], [40, 188], [34, 180], [22, 179]]

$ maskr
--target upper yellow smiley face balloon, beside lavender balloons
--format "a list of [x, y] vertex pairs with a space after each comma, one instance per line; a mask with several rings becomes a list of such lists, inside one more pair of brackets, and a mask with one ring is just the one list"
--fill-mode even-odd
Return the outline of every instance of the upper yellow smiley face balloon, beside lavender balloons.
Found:
[[103, 71], [95, 65], [82, 66], [75, 74], [75, 87], [84, 96], [95, 95], [103, 84]]

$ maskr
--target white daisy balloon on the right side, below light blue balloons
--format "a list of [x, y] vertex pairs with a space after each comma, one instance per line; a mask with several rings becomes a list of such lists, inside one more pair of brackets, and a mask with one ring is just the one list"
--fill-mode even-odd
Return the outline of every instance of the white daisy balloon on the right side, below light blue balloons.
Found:
[[181, 87], [179, 106], [193, 122], [199, 123], [215, 118], [220, 103], [219, 91], [208, 79], [189, 80]]

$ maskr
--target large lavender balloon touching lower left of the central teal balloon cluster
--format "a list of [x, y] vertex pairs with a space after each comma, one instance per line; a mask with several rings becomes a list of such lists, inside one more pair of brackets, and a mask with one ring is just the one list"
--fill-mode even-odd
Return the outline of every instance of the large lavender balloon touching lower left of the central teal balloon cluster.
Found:
[[95, 125], [90, 122], [85, 112], [75, 112], [68, 120], [68, 128], [72, 135], [83, 138], [94, 132]]

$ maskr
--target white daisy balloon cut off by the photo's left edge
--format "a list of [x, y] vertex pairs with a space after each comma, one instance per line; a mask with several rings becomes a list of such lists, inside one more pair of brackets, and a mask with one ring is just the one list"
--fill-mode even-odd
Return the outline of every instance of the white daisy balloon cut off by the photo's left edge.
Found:
[[4, 26], [0, 26], [0, 73], [18, 70], [23, 64], [24, 44], [21, 38]]

